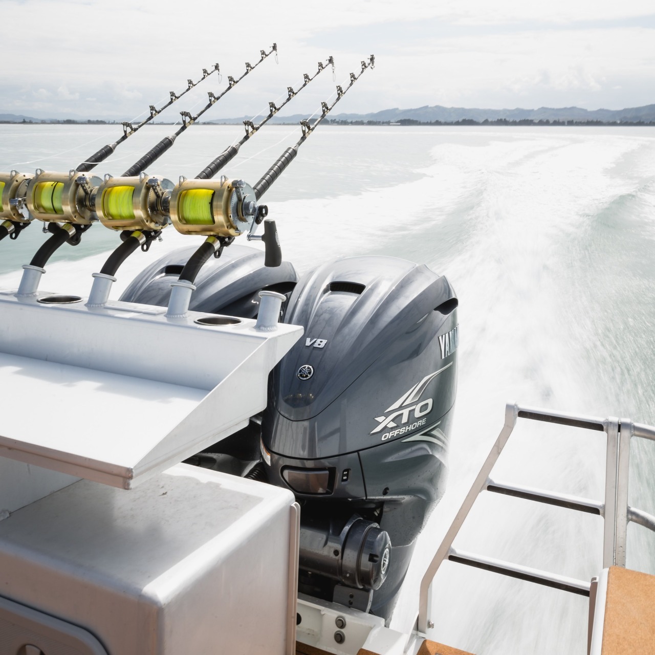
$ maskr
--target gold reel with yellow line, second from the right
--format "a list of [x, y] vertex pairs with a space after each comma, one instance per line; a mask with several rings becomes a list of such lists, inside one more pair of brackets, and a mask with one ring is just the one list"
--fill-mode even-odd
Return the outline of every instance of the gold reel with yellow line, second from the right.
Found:
[[145, 173], [134, 178], [105, 175], [96, 192], [96, 212], [112, 230], [160, 230], [168, 224], [164, 203], [173, 187], [170, 179]]

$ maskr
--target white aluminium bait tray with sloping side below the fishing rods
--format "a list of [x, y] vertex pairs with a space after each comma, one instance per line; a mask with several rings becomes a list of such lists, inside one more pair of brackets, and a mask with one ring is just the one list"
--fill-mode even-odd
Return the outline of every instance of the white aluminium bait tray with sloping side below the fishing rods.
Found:
[[0, 456], [126, 488], [246, 425], [303, 331], [43, 295], [0, 295]]

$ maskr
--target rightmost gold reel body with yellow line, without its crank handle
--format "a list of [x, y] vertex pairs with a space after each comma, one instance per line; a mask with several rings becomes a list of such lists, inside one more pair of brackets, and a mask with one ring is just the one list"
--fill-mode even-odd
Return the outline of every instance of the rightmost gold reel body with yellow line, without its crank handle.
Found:
[[255, 192], [242, 179], [179, 178], [170, 198], [170, 218], [182, 234], [238, 236], [256, 215]]

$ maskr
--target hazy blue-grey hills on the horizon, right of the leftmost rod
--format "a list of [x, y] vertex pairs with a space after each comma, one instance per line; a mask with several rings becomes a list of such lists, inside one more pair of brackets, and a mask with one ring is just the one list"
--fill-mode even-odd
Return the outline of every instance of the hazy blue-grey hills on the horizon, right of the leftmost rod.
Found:
[[[249, 117], [217, 119], [215, 124], [238, 124]], [[271, 123], [294, 123], [307, 118], [303, 114], [274, 116]], [[330, 115], [332, 121], [375, 121], [375, 122], [457, 122], [457, 121], [603, 121], [603, 122], [655, 122], [655, 105], [630, 107], [628, 109], [580, 109], [580, 107], [539, 107], [539, 109], [466, 109], [466, 107], [441, 107], [441, 105], [417, 107], [416, 109], [383, 109], [368, 114]]]

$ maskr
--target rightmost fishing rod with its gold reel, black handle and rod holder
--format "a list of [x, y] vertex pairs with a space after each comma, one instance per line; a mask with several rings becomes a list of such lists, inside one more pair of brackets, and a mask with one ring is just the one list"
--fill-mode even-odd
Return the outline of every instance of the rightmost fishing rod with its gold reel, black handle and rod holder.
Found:
[[[280, 177], [287, 166], [295, 159], [298, 149], [307, 141], [310, 134], [323, 122], [333, 107], [345, 96], [346, 92], [362, 76], [367, 68], [375, 67], [375, 56], [367, 62], [362, 61], [358, 74], [350, 73], [348, 86], [337, 86], [337, 98], [331, 105], [321, 103], [320, 117], [310, 124], [309, 119], [300, 122], [302, 136], [292, 147], [287, 148], [282, 156], [251, 187], [242, 179], [229, 181], [221, 176], [219, 183], [207, 183], [202, 179], [179, 180], [170, 198], [170, 218], [182, 234], [203, 234], [207, 238], [191, 255], [184, 265], [179, 278], [172, 282], [172, 291], [166, 316], [174, 318], [184, 316], [189, 308], [191, 293], [195, 290], [195, 279], [202, 266], [212, 255], [218, 258], [223, 249], [229, 246], [236, 236], [248, 233], [248, 240], [261, 240], [265, 245], [265, 266], [276, 267], [282, 263], [282, 250], [275, 221], [264, 219], [268, 215], [266, 205], [257, 204], [261, 196]], [[193, 202], [185, 202], [193, 194]], [[255, 235], [257, 225], [264, 221], [264, 234]]]

